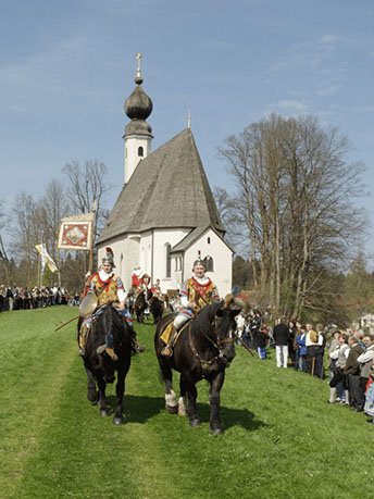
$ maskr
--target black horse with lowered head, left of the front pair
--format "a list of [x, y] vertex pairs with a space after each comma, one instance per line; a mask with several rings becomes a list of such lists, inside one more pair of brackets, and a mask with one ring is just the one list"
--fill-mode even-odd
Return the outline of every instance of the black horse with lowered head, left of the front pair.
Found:
[[[78, 332], [82, 321], [79, 320]], [[105, 348], [108, 335], [111, 336], [113, 350]], [[88, 377], [88, 400], [99, 402], [100, 415], [111, 415], [105, 388], [108, 383], [114, 382], [116, 372], [116, 403], [112, 422], [113, 424], [123, 424], [125, 422], [123, 396], [125, 377], [130, 365], [132, 337], [126, 321], [111, 304], [105, 305], [100, 315], [94, 320], [92, 328], [86, 340], [85, 351], [84, 363]]]

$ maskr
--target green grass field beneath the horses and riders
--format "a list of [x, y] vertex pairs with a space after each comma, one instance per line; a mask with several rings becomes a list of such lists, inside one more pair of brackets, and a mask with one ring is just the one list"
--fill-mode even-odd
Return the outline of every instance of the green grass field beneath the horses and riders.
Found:
[[[326, 382], [277, 370], [237, 347], [222, 390], [225, 435], [209, 429], [208, 385], [198, 385], [202, 426], [164, 410], [154, 327], [137, 326], [147, 350], [126, 378], [126, 424], [86, 399], [77, 309], [0, 314], [0, 497], [362, 498], [374, 497], [374, 427], [325, 402]], [[177, 387], [177, 384], [175, 384]], [[114, 386], [109, 387], [114, 403]]]

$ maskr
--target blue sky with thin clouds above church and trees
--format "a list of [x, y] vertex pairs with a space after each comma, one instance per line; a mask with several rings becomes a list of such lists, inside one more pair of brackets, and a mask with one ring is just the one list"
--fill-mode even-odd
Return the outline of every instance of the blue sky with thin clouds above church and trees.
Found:
[[[372, 0], [2, 0], [0, 196], [41, 195], [70, 160], [123, 185], [125, 99], [141, 52], [152, 150], [187, 126], [211, 186], [216, 147], [274, 111], [347, 134], [374, 185]], [[374, 212], [373, 198], [363, 204]]]

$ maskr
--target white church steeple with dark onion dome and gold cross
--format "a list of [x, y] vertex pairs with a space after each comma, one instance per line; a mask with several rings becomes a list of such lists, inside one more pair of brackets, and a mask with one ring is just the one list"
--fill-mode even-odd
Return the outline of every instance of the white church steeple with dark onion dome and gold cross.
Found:
[[125, 184], [128, 183], [137, 164], [151, 152], [152, 127], [146, 122], [153, 104], [144, 91], [141, 84], [140, 60], [137, 53], [138, 71], [135, 77], [136, 87], [125, 101], [125, 113], [132, 120], [125, 127]]

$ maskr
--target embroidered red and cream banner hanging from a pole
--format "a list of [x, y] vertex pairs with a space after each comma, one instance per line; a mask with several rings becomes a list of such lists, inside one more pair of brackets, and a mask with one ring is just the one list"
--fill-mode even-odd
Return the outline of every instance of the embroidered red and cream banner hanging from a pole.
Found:
[[58, 248], [89, 251], [92, 240], [94, 213], [62, 219]]

